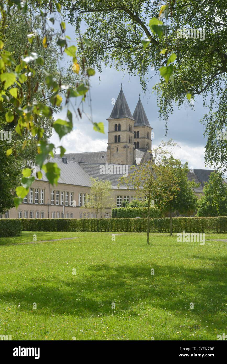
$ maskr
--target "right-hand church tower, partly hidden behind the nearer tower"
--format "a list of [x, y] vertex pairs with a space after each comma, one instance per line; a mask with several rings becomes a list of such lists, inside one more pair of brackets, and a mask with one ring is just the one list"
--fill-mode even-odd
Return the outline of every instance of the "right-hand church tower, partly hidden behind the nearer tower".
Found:
[[142, 102], [139, 101], [136, 105], [135, 111], [132, 116], [135, 119], [134, 123], [134, 145], [136, 149], [151, 150], [151, 131], [153, 128], [147, 119], [146, 112], [143, 108]]

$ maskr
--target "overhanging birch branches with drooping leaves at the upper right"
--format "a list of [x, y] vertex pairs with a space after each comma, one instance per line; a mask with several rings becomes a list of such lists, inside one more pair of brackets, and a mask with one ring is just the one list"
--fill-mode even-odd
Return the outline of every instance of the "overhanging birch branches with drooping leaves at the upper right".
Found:
[[218, 143], [217, 150], [212, 133], [216, 120], [227, 129], [226, 1], [76, 0], [72, 4], [62, 0], [61, 4], [71, 24], [75, 11], [86, 24], [84, 36], [92, 39], [93, 48], [79, 52], [88, 66], [99, 72], [109, 66], [139, 75], [144, 91], [153, 77], [150, 67], [160, 72], [154, 91], [166, 131], [174, 104], [180, 108], [187, 103], [193, 109], [191, 99], [201, 95], [210, 110], [201, 120], [205, 137], [209, 135], [206, 162], [212, 165], [224, 159], [227, 169], [226, 141]]

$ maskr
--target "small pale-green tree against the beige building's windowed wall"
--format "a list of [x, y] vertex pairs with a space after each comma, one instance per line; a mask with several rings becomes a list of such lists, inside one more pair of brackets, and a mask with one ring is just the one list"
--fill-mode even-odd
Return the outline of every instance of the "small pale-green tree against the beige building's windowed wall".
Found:
[[86, 194], [85, 204], [81, 208], [93, 210], [96, 213], [96, 217], [103, 209], [108, 207], [114, 207], [114, 199], [111, 198], [111, 182], [102, 181], [99, 178], [91, 177], [91, 190], [90, 193]]

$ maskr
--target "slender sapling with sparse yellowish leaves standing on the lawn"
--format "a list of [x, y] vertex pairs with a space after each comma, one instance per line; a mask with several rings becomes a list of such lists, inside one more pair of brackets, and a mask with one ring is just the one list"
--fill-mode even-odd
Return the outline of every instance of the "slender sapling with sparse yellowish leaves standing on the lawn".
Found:
[[[164, 156], [171, 154], [170, 148], [176, 146], [172, 140], [168, 142], [161, 142], [160, 145], [154, 148], [153, 152], [150, 151], [150, 160], [139, 166], [132, 166], [131, 171], [127, 177], [121, 177], [120, 183], [127, 185], [128, 188], [134, 187], [138, 196], [146, 196], [148, 204], [147, 215], [147, 244], [149, 242], [150, 230], [150, 207], [158, 193], [158, 175]], [[168, 148], [168, 149], [167, 149]]]

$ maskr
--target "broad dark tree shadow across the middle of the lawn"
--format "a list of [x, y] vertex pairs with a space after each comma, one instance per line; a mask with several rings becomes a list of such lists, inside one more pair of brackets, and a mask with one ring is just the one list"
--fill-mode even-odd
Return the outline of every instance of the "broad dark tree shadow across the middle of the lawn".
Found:
[[[212, 315], [224, 310], [226, 267], [222, 260], [199, 269], [154, 264], [90, 265], [83, 277], [75, 275], [65, 280], [49, 274], [47, 278], [37, 276], [27, 282], [23, 289], [18, 285], [11, 292], [3, 292], [1, 300], [20, 303], [23, 312], [34, 315], [65, 313], [81, 317], [110, 315], [112, 302], [131, 316], [140, 313], [140, 303], [185, 315], [190, 302], [194, 302], [193, 313], [205, 324], [203, 315], [211, 314], [212, 319]], [[37, 309], [32, 309], [33, 302]], [[222, 325], [220, 317], [218, 320]]]

